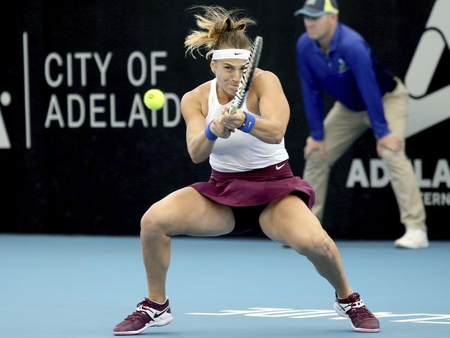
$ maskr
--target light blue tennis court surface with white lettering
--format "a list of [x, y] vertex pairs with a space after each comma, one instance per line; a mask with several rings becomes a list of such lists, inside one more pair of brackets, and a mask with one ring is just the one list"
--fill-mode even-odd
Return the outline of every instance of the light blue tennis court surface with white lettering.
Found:
[[[381, 323], [354, 332], [304, 257], [267, 239], [174, 238], [174, 321], [136, 337], [450, 337], [450, 242], [337, 241]], [[113, 337], [146, 296], [137, 237], [0, 235], [0, 337]]]

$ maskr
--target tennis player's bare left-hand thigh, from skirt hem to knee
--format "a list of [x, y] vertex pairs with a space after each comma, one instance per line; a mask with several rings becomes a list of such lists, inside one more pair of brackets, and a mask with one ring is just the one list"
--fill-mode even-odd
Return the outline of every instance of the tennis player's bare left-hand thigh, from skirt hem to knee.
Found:
[[235, 220], [229, 206], [213, 202], [194, 188], [186, 187], [153, 204], [144, 214], [142, 223], [161, 229], [167, 235], [208, 236], [229, 233]]

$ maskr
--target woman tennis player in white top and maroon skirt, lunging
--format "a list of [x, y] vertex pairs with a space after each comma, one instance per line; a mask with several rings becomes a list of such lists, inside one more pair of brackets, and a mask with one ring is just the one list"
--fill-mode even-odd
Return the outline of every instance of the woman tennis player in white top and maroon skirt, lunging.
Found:
[[[206, 48], [215, 78], [186, 93], [181, 111], [192, 161], [209, 158], [208, 182], [171, 193], [147, 210], [141, 220], [141, 244], [148, 298], [119, 323], [115, 335], [134, 335], [172, 321], [165, 278], [174, 235], [217, 236], [260, 226], [272, 240], [306, 256], [336, 290], [334, 308], [350, 317], [355, 330], [379, 331], [378, 320], [348, 285], [339, 251], [310, 208], [314, 191], [289, 168], [284, 135], [289, 105], [277, 76], [256, 69], [242, 109], [229, 114], [251, 40], [252, 19], [237, 10], [203, 6], [195, 15], [198, 30], [185, 40], [186, 53]], [[253, 216], [253, 222], [249, 217]]]

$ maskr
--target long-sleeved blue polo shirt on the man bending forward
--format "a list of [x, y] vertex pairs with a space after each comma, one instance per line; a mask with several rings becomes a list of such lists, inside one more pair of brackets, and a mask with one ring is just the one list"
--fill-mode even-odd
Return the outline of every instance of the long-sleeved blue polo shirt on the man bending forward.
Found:
[[367, 110], [377, 139], [389, 134], [382, 96], [396, 82], [392, 73], [377, 64], [359, 33], [338, 23], [328, 53], [303, 33], [297, 40], [296, 60], [313, 139], [324, 138], [323, 91], [354, 112]]

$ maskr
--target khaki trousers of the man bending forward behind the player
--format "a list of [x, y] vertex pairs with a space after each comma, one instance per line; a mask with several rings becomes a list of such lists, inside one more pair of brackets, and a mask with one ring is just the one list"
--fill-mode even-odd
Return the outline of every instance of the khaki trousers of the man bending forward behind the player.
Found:
[[[383, 106], [389, 129], [403, 141], [408, 119], [408, 92], [397, 79], [394, 91], [383, 96]], [[324, 121], [325, 159], [318, 151], [313, 151], [305, 163], [303, 178], [316, 191], [316, 204], [312, 208], [319, 220], [323, 218], [323, 208], [327, 194], [330, 168], [348, 150], [363, 132], [370, 128], [368, 113], [353, 112], [339, 102], [327, 114]], [[390, 184], [393, 187], [400, 211], [400, 221], [407, 229], [424, 229], [425, 208], [420, 196], [417, 179], [411, 162], [406, 158], [404, 146], [399, 152], [383, 148], [381, 159], [386, 163]], [[382, 204], [382, 201], [379, 201]]]

